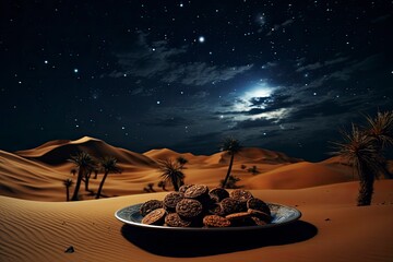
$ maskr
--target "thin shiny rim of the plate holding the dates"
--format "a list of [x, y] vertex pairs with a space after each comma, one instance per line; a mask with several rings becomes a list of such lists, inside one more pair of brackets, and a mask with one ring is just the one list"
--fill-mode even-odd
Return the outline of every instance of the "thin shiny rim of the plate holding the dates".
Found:
[[288, 209], [288, 210], [293, 210], [296, 213], [296, 215], [294, 217], [291, 217], [291, 219], [289, 219], [289, 221], [285, 221], [282, 223], [266, 224], [264, 226], [209, 227], [209, 228], [204, 228], [204, 227], [169, 227], [169, 226], [146, 225], [146, 224], [142, 224], [142, 223], [128, 221], [128, 219], [124, 219], [119, 216], [119, 213], [122, 212], [123, 210], [127, 210], [127, 209], [130, 209], [130, 207], [136, 206], [136, 205], [140, 206], [143, 203], [136, 203], [136, 204], [123, 206], [115, 212], [115, 217], [127, 225], [131, 225], [131, 226], [135, 226], [135, 227], [140, 227], [140, 228], [151, 228], [151, 229], [159, 229], [159, 230], [176, 230], [176, 231], [238, 231], [238, 230], [241, 230], [241, 231], [243, 231], [243, 230], [255, 230], [255, 229], [265, 229], [265, 228], [284, 226], [284, 225], [287, 225], [287, 224], [298, 221], [302, 216], [301, 212], [294, 206], [278, 204], [278, 203], [272, 203], [272, 202], [266, 202], [266, 204], [277, 205], [277, 206]]

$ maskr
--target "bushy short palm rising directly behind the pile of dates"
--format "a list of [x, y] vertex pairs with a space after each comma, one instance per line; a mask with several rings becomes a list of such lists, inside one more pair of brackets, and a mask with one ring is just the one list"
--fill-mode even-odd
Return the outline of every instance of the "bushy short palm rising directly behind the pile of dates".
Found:
[[164, 181], [170, 181], [175, 191], [179, 191], [183, 184], [184, 174], [181, 171], [182, 166], [172, 159], [158, 160], [159, 169], [163, 171], [162, 178]]

